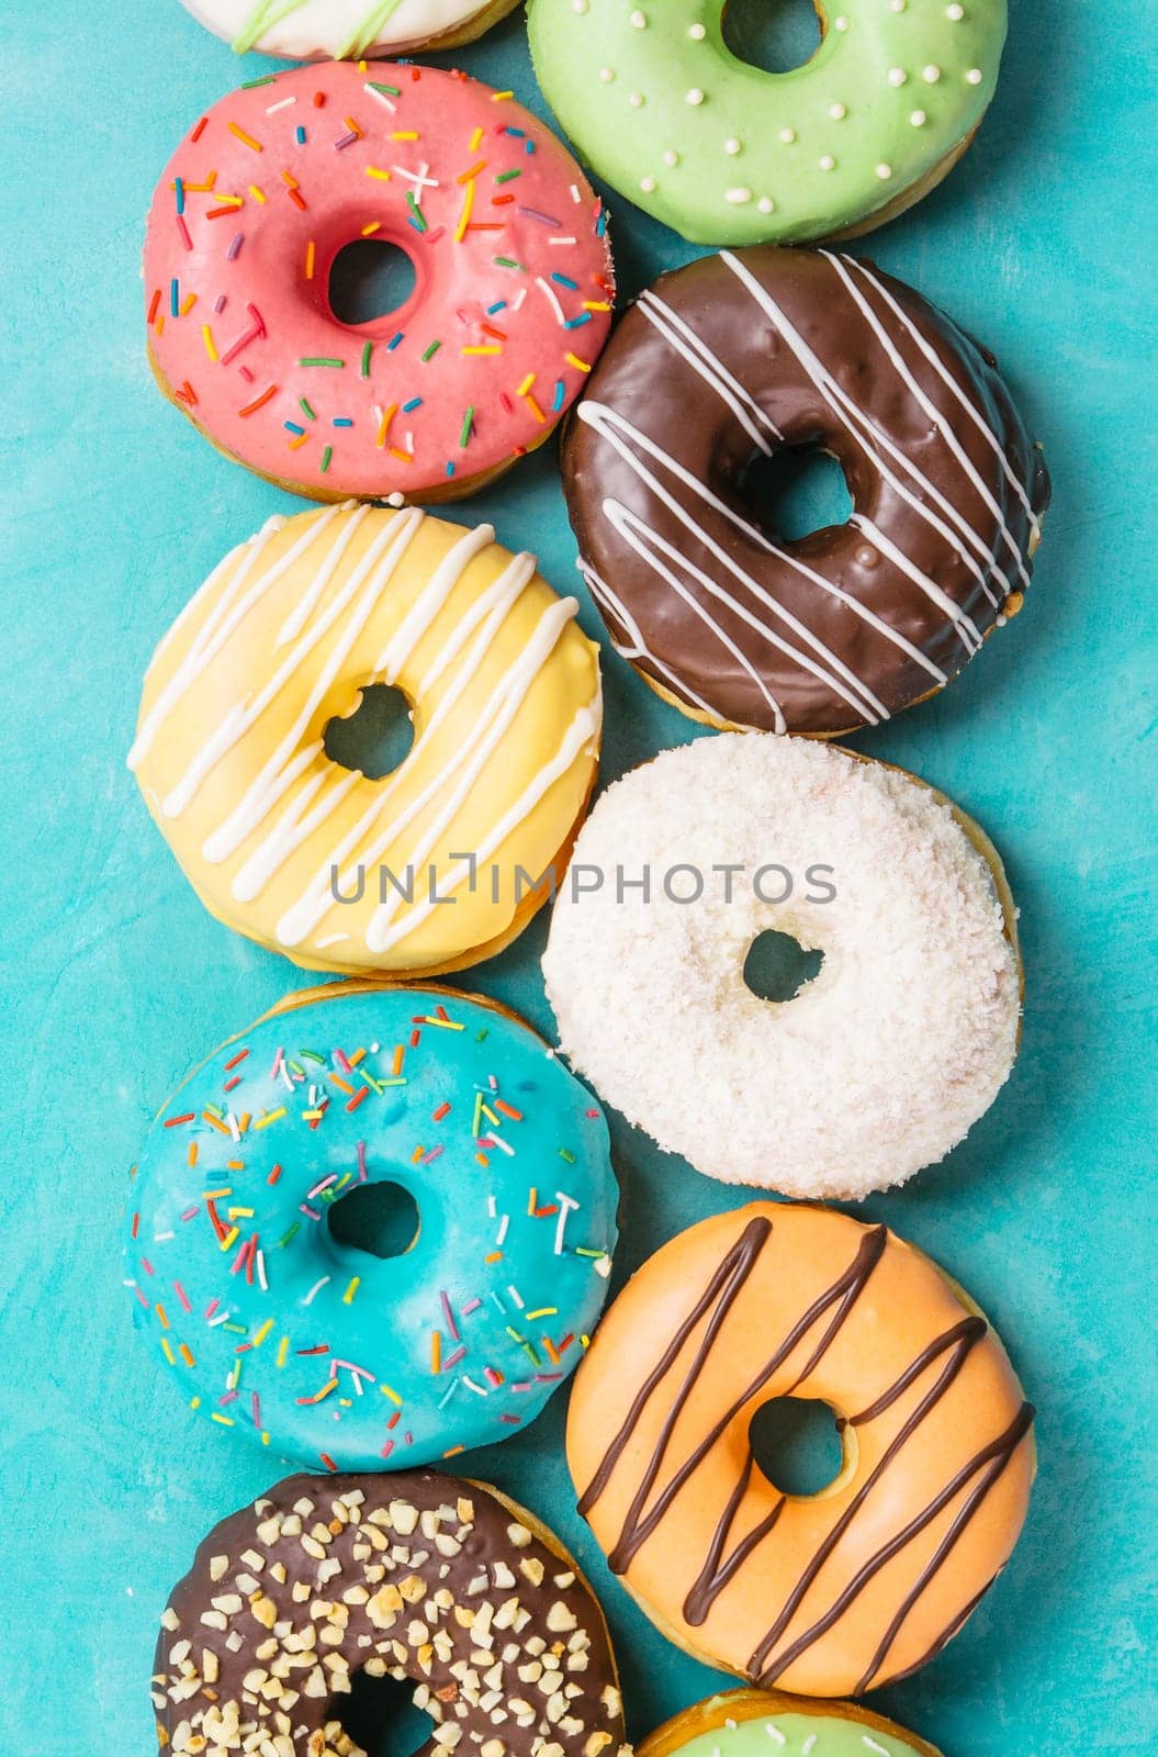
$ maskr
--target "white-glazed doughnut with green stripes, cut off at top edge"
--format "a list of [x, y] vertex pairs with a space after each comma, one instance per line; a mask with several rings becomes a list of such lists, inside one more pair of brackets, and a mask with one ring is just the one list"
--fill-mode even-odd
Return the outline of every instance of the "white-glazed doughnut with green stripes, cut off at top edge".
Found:
[[290, 61], [457, 49], [497, 25], [517, 0], [181, 0], [237, 54]]

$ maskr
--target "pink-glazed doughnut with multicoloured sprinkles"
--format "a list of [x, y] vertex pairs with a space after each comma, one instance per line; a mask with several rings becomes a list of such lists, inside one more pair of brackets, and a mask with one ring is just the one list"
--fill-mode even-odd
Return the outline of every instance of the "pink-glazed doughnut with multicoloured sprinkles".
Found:
[[[343, 323], [374, 237], [409, 299]], [[144, 244], [149, 360], [227, 457], [315, 501], [473, 494], [534, 450], [612, 322], [601, 204], [510, 93], [432, 67], [297, 67], [209, 109]]]

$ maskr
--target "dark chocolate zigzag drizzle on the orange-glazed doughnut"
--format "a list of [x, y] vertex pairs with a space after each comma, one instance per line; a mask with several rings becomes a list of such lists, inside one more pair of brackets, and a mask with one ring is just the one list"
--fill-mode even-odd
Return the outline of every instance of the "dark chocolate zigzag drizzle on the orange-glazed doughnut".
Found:
[[[622, 1574], [629, 1571], [641, 1546], [659, 1530], [661, 1522], [664, 1520], [664, 1515], [671, 1508], [675, 1497], [691, 1481], [717, 1442], [738, 1420], [743, 1420], [745, 1411], [750, 1411], [752, 1400], [759, 1397], [771, 1376], [793, 1356], [794, 1349], [805, 1342], [808, 1332], [828, 1316], [828, 1321], [824, 1323], [824, 1328], [803, 1369], [794, 1376], [791, 1385], [778, 1388], [780, 1395], [791, 1395], [812, 1376], [833, 1341], [840, 1335], [852, 1307], [856, 1305], [856, 1300], [868, 1284], [875, 1267], [880, 1263], [889, 1240], [889, 1233], [884, 1226], [858, 1228], [861, 1232], [861, 1239], [849, 1267], [815, 1300], [812, 1300], [803, 1316], [791, 1325], [784, 1339], [771, 1348], [771, 1353], [761, 1365], [759, 1372], [738, 1395], [729, 1399], [726, 1411], [706, 1428], [689, 1455], [669, 1471], [657, 1490], [680, 1414], [687, 1407], [701, 1376], [712, 1369], [712, 1356], [717, 1349], [722, 1325], [729, 1312], [736, 1307], [745, 1284], [757, 1269], [761, 1253], [771, 1237], [773, 1225], [775, 1223], [763, 1214], [747, 1221], [740, 1237], [727, 1249], [726, 1256], [710, 1276], [705, 1291], [696, 1298], [687, 1318], [675, 1330], [659, 1362], [643, 1379], [643, 1385], [622, 1425], [610, 1441], [590, 1483], [580, 1497], [580, 1511], [589, 1515], [599, 1502], [601, 1495], [608, 1490], [615, 1469], [624, 1458], [626, 1448], [648, 1411], [648, 1406], [652, 1406], [652, 1400], [661, 1392], [662, 1381], [673, 1367], [677, 1367], [680, 1355], [703, 1325], [703, 1337], [687, 1369], [684, 1370], [677, 1390], [669, 1393], [669, 1400], [664, 1402], [662, 1416], [657, 1425], [655, 1444], [640, 1472], [640, 1481], [627, 1506], [627, 1513], [624, 1515], [619, 1537], [608, 1548], [608, 1562], [615, 1573]], [[935, 1553], [903, 1592], [903, 1597], [900, 1599], [887, 1627], [882, 1630], [879, 1646], [873, 1652], [856, 1690], [859, 1692], [870, 1688], [870, 1685], [877, 1681], [877, 1676], [886, 1666], [893, 1645], [910, 1611], [940, 1573], [942, 1565], [947, 1562], [970, 1522], [986, 1500], [986, 1495], [1005, 1472], [1021, 1441], [1030, 1432], [1030, 1425], [1033, 1421], [1033, 1409], [1030, 1404], [1023, 1402], [1002, 1434], [981, 1446], [975, 1455], [956, 1469], [944, 1486], [938, 1488], [938, 1492], [924, 1506], [921, 1506], [901, 1529], [894, 1530], [886, 1543], [879, 1544], [861, 1560], [852, 1578], [847, 1580], [831, 1604], [819, 1616], [815, 1616], [808, 1627], [800, 1630], [791, 1639], [789, 1630], [808, 1592], [821, 1576], [824, 1564], [836, 1551], [836, 1546], [842, 1543], [845, 1534], [854, 1527], [868, 1497], [873, 1493], [886, 1472], [894, 1467], [898, 1457], [910, 1444], [926, 1418], [949, 1395], [965, 1369], [966, 1360], [973, 1349], [984, 1344], [986, 1337], [988, 1325], [984, 1318], [977, 1314], [963, 1316], [958, 1323], [935, 1335], [898, 1374], [898, 1377], [865, 1409], [849, 1416], [842, 1423], [849, 1428], [868, 1427], [884, 1416], [905, 1395], [905, 1392], [908, 1392], [926, 1372], [930, 1372], [930, 1369], [938, 1367], [937, 1377], [921, 1393], [896, 1432], [891, 1434], [879, 1462], [865, 1474], [863, 1481], [859, 1481], [859, 1486], [856, 1486], [835, 1523], [817, 1543], [800, 1576], [785, 1592], [782, 1592], [777, 1613], [747, 1662], [747, 1673], [757, 1685], [768, 1688], [777, 1680], [784, 1678], [789, 1667], [840, 1622], [840, 1618], [859, 1599], [886, 1564], [907, 1550], [908, 1544], [912, 1544], [945, 1509], [952, 1508], [958, 1497], [963, 1497], [961, 1506], [956, 1509], [952, 1522], [940, 1537]], [[666, 1397], [668, 1393], [664, 1393], [664, 1399]], [[733, 1541], [733, 1527], [745, 1504], [754, 1469], [754, 1457], [749, 1448], [735, 1486], [729, 1490], [719, 1522], [712, 1532], [703, 1564], [685, 1594], [682, 1616], [689, 1627], [698, 1627], [706, 1622], [719, 1595], [733, 1580], [736, 1580], [745, 1564], [757, 1555], [764, 1543], [777, 1543], [777, 1525], [789, 1500], [787, 1495], [778, 1495], [771, 1508], [764, 1511], [763, 1516], [738, 1541]], [[756, 1565], [759, 1565], [759, 1562]], [[780, 1594], [780, 1588], [777, 1590]], [[982, 1592], [986, 1588], [982, 1587]], [[966, 1608], [956, 1613], [944, 1630], [938, 1630], [926, 1657], [931, 1659], [937, 1652], [940, 1652], [956, 1629], [965, 1622], [973, 1604], [979, 1602], [981, 1595], [981, 1592], [975, 1594]]]

